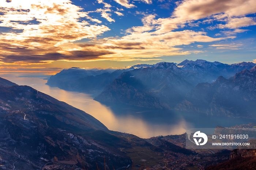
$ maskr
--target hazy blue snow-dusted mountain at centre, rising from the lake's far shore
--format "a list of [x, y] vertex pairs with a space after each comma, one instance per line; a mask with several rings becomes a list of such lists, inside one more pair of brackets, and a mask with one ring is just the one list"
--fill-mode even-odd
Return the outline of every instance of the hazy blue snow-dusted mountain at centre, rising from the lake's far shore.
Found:
[[[184, 77], [178, 74], [184, 73]], [[94, 100], [120, 102], [149, 108], [172, 108], [193, 85], [187, 72], [173, 63], [134, 69], [121, 74]], [[191, 80], [193, 76], [186, 77]]]

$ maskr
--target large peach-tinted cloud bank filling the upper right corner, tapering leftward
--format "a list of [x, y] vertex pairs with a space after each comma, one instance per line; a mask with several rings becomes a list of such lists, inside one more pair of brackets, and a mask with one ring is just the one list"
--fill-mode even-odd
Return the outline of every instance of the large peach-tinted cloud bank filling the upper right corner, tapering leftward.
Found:
[[256, 12], [254, 0], [184, 0], [174, 9], [170, 18], [155, 20], [159, 25], [159, 34], [173, 31], [185, 23], [205, 19], [206, 23], [212, 19], [236, 18]]

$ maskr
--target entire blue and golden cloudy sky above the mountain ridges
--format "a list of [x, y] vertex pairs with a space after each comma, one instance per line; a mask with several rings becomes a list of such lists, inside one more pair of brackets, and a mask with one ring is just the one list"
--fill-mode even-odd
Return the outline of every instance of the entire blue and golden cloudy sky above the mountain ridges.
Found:
[[0, 0], [0, 74], [256, 62], [255, 0]]

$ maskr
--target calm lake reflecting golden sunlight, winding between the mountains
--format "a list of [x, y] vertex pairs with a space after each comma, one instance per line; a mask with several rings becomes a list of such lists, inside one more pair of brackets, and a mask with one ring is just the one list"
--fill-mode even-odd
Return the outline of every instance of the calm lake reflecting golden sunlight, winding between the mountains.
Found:
[[[0, 76], [1, 77], [1, 76]], [[35, 77], [4, 77], [18, 85], [28, 85], [64, 101], [101, 121], [109, 130], [126, 132], [141, 138], [182, 134], [186, 128], [230, 127], [256, 123], [255, 119], [212, 116], [203, 113], [132, 107], [123, 104], [101, 104], [91, 94], [69, 92], [45, 85], [47, 80]]]

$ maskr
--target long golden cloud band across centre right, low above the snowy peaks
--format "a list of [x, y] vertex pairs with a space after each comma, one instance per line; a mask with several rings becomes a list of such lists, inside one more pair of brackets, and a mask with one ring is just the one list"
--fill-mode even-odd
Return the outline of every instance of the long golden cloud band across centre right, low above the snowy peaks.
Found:
[[[157, 35], [154, 32], [143, 32], [123, 36], [122, 38], [105, 38], [102, 48], [113, 50], [113, 56], [117, 61], [131, 61], [136, 57], [160, 57], [167, 55], [185, 55], [193, 51], [183, 51], [175, 46], [189, 45], [194, 42], [213, 42], [227, 38], [211, 38], [205, 32], [190, 30], [168, 32]], [[111, 45], [111, 46], [110, 46]], [[203, 51], [196, 51], [202, 53]], [[136, 56], [136, 57], [134, 57]], [[115, 58], [114, 58], [115, 57]]]

